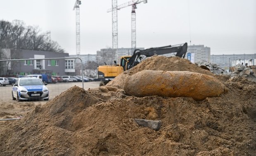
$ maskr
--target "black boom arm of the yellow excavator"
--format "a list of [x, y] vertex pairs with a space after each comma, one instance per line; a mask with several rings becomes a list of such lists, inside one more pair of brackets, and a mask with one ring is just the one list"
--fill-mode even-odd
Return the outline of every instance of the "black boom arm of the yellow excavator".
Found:
[[128, 62], [126, 62], [125, 70], [131, 69], [138, 63], [140, 63], [141, 55], [145, 55], [144, 57], [150, 57], [154, 55], [163, 55], [168, 53], [176, 53], [175, 56], [184, 58], [187, 53], [187, 43], [179, 44], [175, 46], [162, 46], [156, 48], [148, 48], [145, 50], [136, 49], [133, 52], [133, 55], [129, 58]]

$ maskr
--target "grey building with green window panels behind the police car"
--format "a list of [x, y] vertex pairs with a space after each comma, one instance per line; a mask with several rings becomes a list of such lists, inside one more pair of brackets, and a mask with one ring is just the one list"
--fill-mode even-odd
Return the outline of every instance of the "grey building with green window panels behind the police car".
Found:
[[[36, 50], [2, 50], [5, 59], [28, 59], [25, 61], [6, 62], [7, 72], [5, 75], [28, 75], [36, 73], [49, 73], [51, 75], [72, 75], [75, 73], [74, 59], [51, 59], [51, 60], [30, 60], [69, 57], [68, 53], [55, 53]], [[4, 73], [1, 73], [3, 75]]]

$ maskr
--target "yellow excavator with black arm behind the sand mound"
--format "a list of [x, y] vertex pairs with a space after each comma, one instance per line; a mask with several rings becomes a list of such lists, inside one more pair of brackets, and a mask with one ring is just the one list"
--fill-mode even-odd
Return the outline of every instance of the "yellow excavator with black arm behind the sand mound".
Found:
[[175, 56], [184, 58], [187, 53], [187, 43], [178, 44], [174, 46], [162, 46], [156, 48], [148, 48], [145, 50], [135, 49], [133, 55], [131, 56], [122, 56], [120, 60], [120, 64], [116, 64], [114, 61], [114, 65], [104, 65], [97, 67], [98, 78], [101, 80], [100, 86], [104, 86], [109, 81], [113, 80], [116, 76], [123, 71], [131, 69], [136, 66], [146, 57], [151, 57], [154, 55], [164, 55], [168, 53], [175, 53]]

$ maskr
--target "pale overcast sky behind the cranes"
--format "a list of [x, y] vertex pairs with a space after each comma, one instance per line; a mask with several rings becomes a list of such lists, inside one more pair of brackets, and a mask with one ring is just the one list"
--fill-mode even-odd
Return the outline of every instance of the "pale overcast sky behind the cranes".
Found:
[[[76, 54], [76, 0], [0, 0], [0, 20], [21, 20]], [[130, 0], [118, 0], [121, 5]], [[81, 55], [112, 47], [111, 0], [81, 0]], [[256, 53], [256, 0], [148, 0], [136, 9], [136, 47], [204, 45], [211, 54]], [[131, 6], [118, 11], [119, 48], [131, 46]]]

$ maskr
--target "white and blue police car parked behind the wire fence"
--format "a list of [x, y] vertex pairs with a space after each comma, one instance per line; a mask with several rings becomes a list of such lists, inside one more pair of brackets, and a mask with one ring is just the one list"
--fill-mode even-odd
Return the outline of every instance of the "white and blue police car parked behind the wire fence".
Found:
[[13, 100], [44, 99], [49, 100], [49, 90], [39, 78], [22, 77], [18, 78], [12, 86]]

